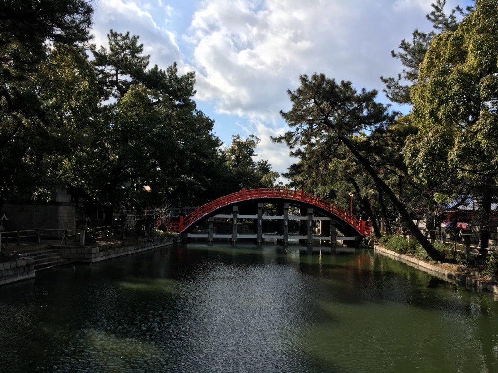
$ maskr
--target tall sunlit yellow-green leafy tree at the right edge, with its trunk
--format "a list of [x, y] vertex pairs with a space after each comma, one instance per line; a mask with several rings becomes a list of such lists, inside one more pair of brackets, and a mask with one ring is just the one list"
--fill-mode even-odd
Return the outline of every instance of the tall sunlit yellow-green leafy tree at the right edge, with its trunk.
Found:
[[481, 204], [481, 253], [490, 237], [492, 196], [498, 178], [498, 7], [481, 0], [453, 29], [435, 36], [411, 90], [407, 139], [412, 173], [437, 178], [452, 170], [473, 185]]

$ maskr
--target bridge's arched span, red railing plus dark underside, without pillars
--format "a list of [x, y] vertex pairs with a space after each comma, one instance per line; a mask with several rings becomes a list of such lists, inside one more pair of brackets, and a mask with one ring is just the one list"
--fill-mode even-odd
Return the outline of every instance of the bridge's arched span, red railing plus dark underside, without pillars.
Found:
[[242, 189], [224, 195], [198, 207], [185, 217], [181, 216], [179, 222], [169, 223], [168, 227], [177, 232], [189, 232], [209, 216], [231, 205], [248, 202], [272, 203], [280, 200], [303, 207], [312, 207], [315, 212], [336, 219], [336, 227], [344, 234], [367, 236], [371, 233], [372, 228], [367, 226], [365, 221], [358, 219], [343, 208], [303, 190], [283, 188]]

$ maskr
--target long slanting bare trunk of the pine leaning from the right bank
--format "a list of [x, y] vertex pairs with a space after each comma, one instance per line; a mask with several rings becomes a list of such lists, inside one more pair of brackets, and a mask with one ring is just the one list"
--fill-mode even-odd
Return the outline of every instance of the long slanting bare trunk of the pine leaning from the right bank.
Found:
[[370, 177], [373, 179], [373, 182], [380, 188], [382, 191], [389, 197], [392, 204], [399, 212], [399, 215], [403, 219], [407, 228], [410, 230], [411, 234], [416, 238], [416, 240], [422, 245], [424, 250], [427, 252], [429, 257], [435, 261], [442, 261], [444, 258], [441, 254], [432, 246], [432, 244], [427, 240], [427, 238], [418, 230], [418, 227], [411, 219], [409, 212], [406, 210], [401, 201], [396, 197], [396, 194], [393, 193], [391, 188], [389, 188], [382, 179], [378, 176], [378, 173], [373, 169], [370, 162], [363, 157], [360, 152], [355, 148], [355, 146], [346, 138], [345, 136], [339, 136], [339, 139], [343, 142], [344, 145], [351, 151], [353, 156], [360, 162], [360, 164], [365, 168], [365, 171], [368, 172]]

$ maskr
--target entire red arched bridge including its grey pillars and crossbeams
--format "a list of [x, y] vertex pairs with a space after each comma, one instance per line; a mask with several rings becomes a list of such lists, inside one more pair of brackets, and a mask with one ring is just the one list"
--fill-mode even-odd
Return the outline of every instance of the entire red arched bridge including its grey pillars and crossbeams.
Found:
[[[264, 211], [267, 204], [276, 207], [276, 214]], [[289, 214], [289, 210], [298, 214]], [[225, 226], [220, 232], [216, 224], [220, 220], [229, 220], [231, 227], [227, 230]], [[239, 223], [242, 221], [249, 222], [246, 227], [251, 227], [250, 231], [241, 232]], [[268, 222], [273, 222], [275, 228], [271, 232], [264, 229]], [[250, 239], [258, 244], [263, 240], [278, 240], [284, 245], [300, 241], [308, 246], [318, 240], [331, 246], [337, 241], [356, 244], [372, 231], [365, 221], [327, 200], [303, 190], [282, 188], [242, 189], [208, 202], [186, 216], [178, 216], [166, 225], [172, 231], [181, 232], [184, 240], [230, 239], [236, 243]], [[297, 226], [297, 232], [289, 229], [291, 225]]]

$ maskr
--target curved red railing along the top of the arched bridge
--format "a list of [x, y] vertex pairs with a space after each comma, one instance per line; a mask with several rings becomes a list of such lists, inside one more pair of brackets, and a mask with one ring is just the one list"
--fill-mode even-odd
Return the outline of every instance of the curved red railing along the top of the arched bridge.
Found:
[[316, 195], [305, 193], [304, 190], [290, 190], [281, 188], [261, 188], [247, 190], [242, 189], [241, 191], [224, 195], [223, 197], [217, 198], [197, 208], [185, 217], [180, 216], [179, 222], [167, 222], [166, 227], [171, 231], [181, 232], [203, 216], [221, 207], [228, 206], [229, 204], [239, 201], [258, 198], [286, 198], [301, 202], [304, 201], [332, 213], [341, 220], [347, 222], [364, 236], [368, 236], [372, 232], [372, 227], [367, 226], [364, 220], [358, 219], [355, 215], [349, 213], [339, 206], [330, 203], [325, 199], [321, 199]]

